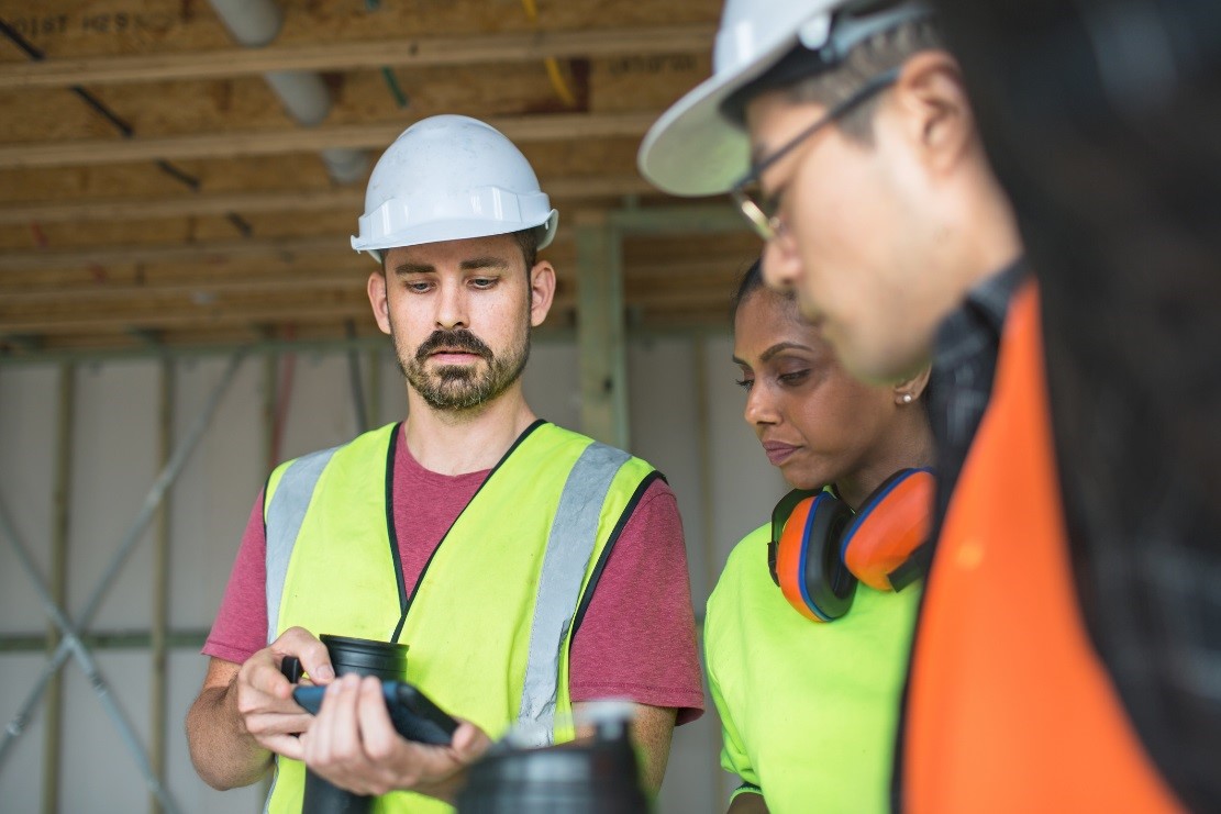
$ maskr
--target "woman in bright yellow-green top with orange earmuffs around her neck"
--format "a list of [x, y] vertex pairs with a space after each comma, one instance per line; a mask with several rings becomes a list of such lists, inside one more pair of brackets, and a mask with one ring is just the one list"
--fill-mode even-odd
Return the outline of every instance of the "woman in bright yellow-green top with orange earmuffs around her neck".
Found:
[[794, 487], [708, 598], [722, 765], [746, 812], [885, 812], [919, 546], [933, 500], [928, 370], [849, 376], [759, 264], [734, 305], [745, 417]]

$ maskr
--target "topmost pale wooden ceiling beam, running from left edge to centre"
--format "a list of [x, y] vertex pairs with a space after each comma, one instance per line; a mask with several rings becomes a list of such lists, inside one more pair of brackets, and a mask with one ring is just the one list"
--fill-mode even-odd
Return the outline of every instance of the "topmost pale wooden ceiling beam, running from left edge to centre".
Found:
[[398, 38], [365, 43], [269, 45], [187, 54], [60, 57], [0, 65], [0, 89], [66, 88], [126, 82], [217, 79], [270, 71], [350, 71], [531, 62], [547, 57], [653, 56], [707, 52], [708, 24], [527, 32], [476, 37]]

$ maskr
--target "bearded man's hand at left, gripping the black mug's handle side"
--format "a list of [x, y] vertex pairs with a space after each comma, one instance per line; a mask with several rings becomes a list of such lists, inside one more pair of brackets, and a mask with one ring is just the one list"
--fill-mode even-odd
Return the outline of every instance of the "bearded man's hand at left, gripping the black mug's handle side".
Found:
[[326, 646], [305, 629], [289, 627], [247, 659], [228, 688], [226, 703], [233, 705], [242, 730], [259, 746], [300, 760], [304, 751], [295, 735], [309, 730], [314, 716], [293, 701], [293, 685], [280, 671], [286, 655], [300, 659], [314, 683], [330, 683], [335, 679]]

